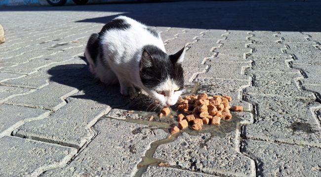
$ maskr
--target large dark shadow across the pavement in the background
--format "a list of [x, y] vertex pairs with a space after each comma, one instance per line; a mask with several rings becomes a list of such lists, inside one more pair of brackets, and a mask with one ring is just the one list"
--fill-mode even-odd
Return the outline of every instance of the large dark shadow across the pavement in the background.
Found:
[[[120, 12], [149, 26], [193, 29], [321, 31], [321, 1], [185, 1], [62, 7], [7, 7], [1, 11]], [[77, 22], [106, 23], [118, 15]]]

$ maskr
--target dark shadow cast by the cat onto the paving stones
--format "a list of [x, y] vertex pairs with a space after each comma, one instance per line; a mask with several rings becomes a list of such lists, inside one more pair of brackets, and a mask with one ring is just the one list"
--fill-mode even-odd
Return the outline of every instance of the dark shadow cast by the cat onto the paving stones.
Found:
[[[83, 57], [81, 59], [85, 60]], [[55, 82], [79, 90], [70, 96], [70, 99], [88, 99], [97, 101], [112, 108], [124, 108], [134, 111], [156, 111], [152, 100], [142, 93], [134, 97], [127, 97], [120, 94], [119, 85], [106, 86], [99, 80], [94, 79], [86, 64], [61, 64], [50, 68], [51, 75], [49, 82]]]

